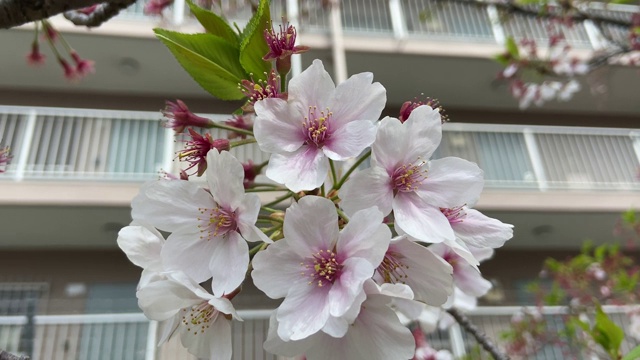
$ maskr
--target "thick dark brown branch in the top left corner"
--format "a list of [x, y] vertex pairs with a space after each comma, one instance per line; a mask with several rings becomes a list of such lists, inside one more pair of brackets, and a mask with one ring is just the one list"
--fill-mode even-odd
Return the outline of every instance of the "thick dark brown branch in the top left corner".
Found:
[[100, 4], [104, 0], [0, 0], [0, 29], [43, 20], [65, 11]]

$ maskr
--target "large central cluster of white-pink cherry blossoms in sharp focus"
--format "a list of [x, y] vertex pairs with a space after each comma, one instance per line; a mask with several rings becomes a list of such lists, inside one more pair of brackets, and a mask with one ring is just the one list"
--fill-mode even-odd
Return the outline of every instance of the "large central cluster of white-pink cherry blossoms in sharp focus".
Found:
[[[336, 86], [318, 60], [287, 90], [286, 98], [255, 99], [253, 127], [237, 116], [203, 124], [242, 131], [239, 141], [257, 142], [268, 163], [243, 165], [229, 141], [215, 146], [189, 128], [191, 147], [179, 157], [206, 184], [160, 179], [133, 200], [133, 223], [118, 242], [144, 269], [140, 307], [162, 321], [162, 340], [179, 333], [196, 356], [229, 359], [229, 324], [240, 320], [231, 301], [249, 271], [258, 289], [283, 299], [269, 352], [424, 358], [431, 350], [418, 343], [416, 352], [399, 316], [416, 320], [424, 306], [483, 295], [490, 283], [477, 265], [512, 237], [511, 225], [469, 207], [483, 187], [476, 164], [430, 160], [442, 138], [438, 109], [407, 106], [404, 121], [379, 120], [386, 90], [372, 74]], [[169, 108], [178, 131], [199, 119], [183, 103]], [[254, 182], [263, 166], [276, 184]], [[253, 192], [263, 187], [284, 195], [262, 206]]]

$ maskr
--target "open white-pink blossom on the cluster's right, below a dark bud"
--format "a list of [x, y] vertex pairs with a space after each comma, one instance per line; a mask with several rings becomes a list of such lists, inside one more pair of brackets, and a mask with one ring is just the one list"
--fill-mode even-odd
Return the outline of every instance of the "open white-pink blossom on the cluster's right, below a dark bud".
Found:
[[404, 123], [380, 122], [371, 149], [371, 168], [355, 173], [340, 191], [347, 214], [377, 206], [393, 210], [396, 230], [425, 242], [454, 240], [440, 208], [475, 202], [483, 172], [474, 163], [448, 157], [428, 161], [442, 138], [438, 111], [420, 106]]

